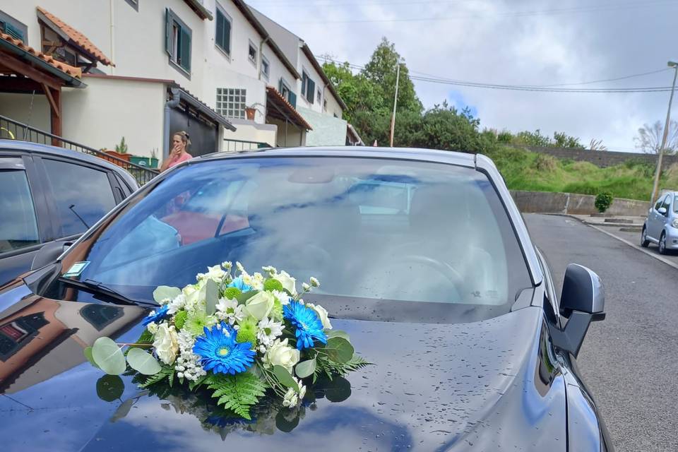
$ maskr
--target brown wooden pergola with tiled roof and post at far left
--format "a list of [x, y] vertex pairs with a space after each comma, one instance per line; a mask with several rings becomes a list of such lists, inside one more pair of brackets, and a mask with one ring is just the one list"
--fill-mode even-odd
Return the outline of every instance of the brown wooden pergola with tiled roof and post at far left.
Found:
[[81, 76], [81, 69], [0, 32], [0, 92], [44, 94], [54, 135], [61, 136], [61, 88], [84, 88]]

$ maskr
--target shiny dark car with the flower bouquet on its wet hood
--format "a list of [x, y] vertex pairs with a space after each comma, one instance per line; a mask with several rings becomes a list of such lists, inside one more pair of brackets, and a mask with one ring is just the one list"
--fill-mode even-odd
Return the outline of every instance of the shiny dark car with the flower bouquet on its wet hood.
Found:
[[[373, 365], [244, 421], [176, 381], [141, 390], [86, 362], [101, 336], [139, 337], [155, 287], [222, 261], [317, 277], [304, 298]], [[0, 292], [2, 450], [611, 451], [576, 366], [603, 304], [597, 275], [576, 264], [556, 296], [482, 155], [208, 155]]]

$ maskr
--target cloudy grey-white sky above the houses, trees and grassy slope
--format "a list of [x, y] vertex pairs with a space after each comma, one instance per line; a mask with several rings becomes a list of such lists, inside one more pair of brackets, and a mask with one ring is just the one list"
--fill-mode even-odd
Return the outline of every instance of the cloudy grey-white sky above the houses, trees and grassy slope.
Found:
[[[677, 0], [249, 0], [314, 54], [364, 65], [381, 37], [410, 73], [501, 85], [670, 86]], [[677, 60], [678, 61], [678, 60]], [[662, 69], [665, 69], [662, 71]], [[634, 150], [646, 122], [665, 120], [669, 93], [535, 93], [415, 81], [425, 107], [468, 105], [483, 127], [565, 131]], [[678, 103], [678, 102], [677, 102]], [[674, 108], [678, 119], [678, 107]]]

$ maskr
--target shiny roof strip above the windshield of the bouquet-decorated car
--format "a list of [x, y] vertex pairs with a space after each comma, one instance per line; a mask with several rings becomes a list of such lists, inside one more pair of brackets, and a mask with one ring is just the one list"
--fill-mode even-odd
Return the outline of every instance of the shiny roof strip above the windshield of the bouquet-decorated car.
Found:
[[[449, 150], [422, 148], [376, 148], [371, 146], [317, 146], [309, 148], [264, 148], [237, 153], [212, 153], [198, 157], [200, 160], [222, 160], [237, 157], [374, 157], [422, 162], [441, 162], [464, 167], [475, 167], [475, 155]], [[189, 160], [189, 163], [191, 160]], [[196, 159], [192, 160], [196, 162]]]

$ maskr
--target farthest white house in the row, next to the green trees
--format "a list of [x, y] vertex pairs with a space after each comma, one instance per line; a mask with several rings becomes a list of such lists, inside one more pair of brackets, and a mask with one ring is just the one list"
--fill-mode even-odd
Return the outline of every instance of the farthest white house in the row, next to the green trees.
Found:
[[362, 143], [355, 129], [352, 126], [349, 128], [347, 121], [342, 119], [346, 105], [314, 57], [309, 45], [268, 16], [252, 7], [250, 9], [301, 74], [297, 82], [299, 95], [296, 107], [313, 128], [307, 133], [306, 145]]

